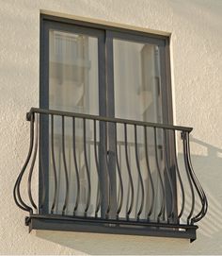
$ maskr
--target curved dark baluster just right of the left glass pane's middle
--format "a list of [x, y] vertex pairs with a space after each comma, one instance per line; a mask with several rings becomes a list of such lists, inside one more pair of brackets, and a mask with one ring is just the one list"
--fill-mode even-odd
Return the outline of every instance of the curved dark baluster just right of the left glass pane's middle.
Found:
[[90, 183], [90, 174], [89, 174], [89, 169], [88, 169], [88, 163], [87, 163], [87, 136], [86, 136], [86, 119], [83, 118], [83, 125], [84, 125], [84, 158], [85, 158], [85, 164], [86, 164], [86, 169], [87, 169], [87, 205], [85, 208], [85, 215], [87, 215], [87, 210], [90, 204], [90, 196], [91, 196], [91, 183]]

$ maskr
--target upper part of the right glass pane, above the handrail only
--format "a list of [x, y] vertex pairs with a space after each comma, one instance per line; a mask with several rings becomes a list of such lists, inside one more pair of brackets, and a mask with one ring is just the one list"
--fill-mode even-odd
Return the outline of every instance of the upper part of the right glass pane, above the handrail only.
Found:
[[162, 122], [157, 45], [114, 40], [115, 115]]

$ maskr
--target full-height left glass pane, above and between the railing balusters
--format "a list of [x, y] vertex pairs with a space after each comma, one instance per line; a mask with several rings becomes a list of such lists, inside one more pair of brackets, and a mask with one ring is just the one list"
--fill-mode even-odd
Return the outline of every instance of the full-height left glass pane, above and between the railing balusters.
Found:
[[[99, 114], [98, 79], [98, 39], [83, 34], [50, 30], [49, 43], [49, 109], [87, 114]], [[51, 121], [51, 120], [50, 120]], [[93, 123], [86, 122], [86, 145], [84, 145], [83, 119], [64, 118], [64, 137], [62, 119], [54, 117], [54, 154], [57, 177], [57, 203], [55, 213], [62, 213], [66, 191], [66, 172], [69, 180], [68, 204], [66, 214], [73, 214], [77, 201], [77, 180], [80, 191], [78, 208], [75, 213], [83, 215], [87, 204], [87, 165], [91, 187], [91, 200], [88, 215], [95, 212], [96, 188], [98, 178], [95, 161], [90, 156], [93, 150]], [[52, 158], [52, 123], [49, 122], [49, 212], [55, 196], [55, 170]], [[64, 142], [63, 142], [64, 138]], [[75, 140], [75, 162], [73, 157]], [[64, 148], [63, 148], [64, 143]], [[87, 154], [87, 164], [85, 159]], [[65, 163], [66, 162], [66, 165]], [[77, 170], [76, 170], [77, 164]], [[77, 179], [77, 174], [79, 178]]]

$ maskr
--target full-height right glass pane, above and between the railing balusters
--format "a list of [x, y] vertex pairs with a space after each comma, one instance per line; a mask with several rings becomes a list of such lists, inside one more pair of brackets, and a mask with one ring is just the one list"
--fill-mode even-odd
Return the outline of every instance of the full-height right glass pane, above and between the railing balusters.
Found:
[[[114, 39], [114, 90], [115, 90], [115, 116], [123, 119], [133, 119], [137, 121], [146, 121], [154, 123], [162, 123], [162, 99], [160, 91], [160, 56], [157, 45], [148, 43], [135, 43]], [[144, 180], [145, 191], [145, 207], [140, 215], [141, 218], [147, 218], [149, 209], [151, 208], [151, 179], [154, 184], [154, 211], [151, 219], [156, 219], [160, 209], [162, 188], [160, 179], [158, 178], [156, 160], [154, 133], [152, 128], [147, 128], [148, 134], [148, 155], [151, 167], [151, 178], [148, 176], [146, 152], [144, 143], [144, 129], [137, 127], [137, 156], [140, 166], [141, 176]], [[127, 151], [129, 155], [129, 164], [131, 174], [134, 180], [135, 189], [135, 205], [133, 207], [132, 217], [136, 218], [139, 211], [140, 202], [142, 200], [142, 192], [140, 179], [138, 176], [136, 159], [135, 159], [135, 128], [128, 126], [127, 129]], [[160, 165], [160, 171], [163, 175], [163, 159], [161, 150], [163, 148], [163, 138], [161, 130], [157, 129], [157, 161]], [[119, 145], [119, 162], [121, 165], [121, 173], [124, 180], [123, 188], [127, 191], [123, 201], [123, 209], [129, 208], [130, 180], [126, 166], [124, 130], [118, 128], [118, 145]], [[117, 182], [119, 187], [119, 180]], [[120, 216], [124, 217], [126, 212], [121, 211]]]

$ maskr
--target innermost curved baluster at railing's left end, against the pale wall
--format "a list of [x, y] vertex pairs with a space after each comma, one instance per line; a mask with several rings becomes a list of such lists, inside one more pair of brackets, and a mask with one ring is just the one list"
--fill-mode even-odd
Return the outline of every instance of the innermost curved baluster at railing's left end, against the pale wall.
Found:
[[[37, 117], [36, 117], [37, 119]], [[34, 131], [35, 133], [35, 131]], [[33, 169], [35, 166], [35, 162], [36, 162], [36, 157], [37, 157], [37, 149], [38, 149], [38, 136], [39, 135], [39, 131], [38, 131], [38, 120], [36, 120], [36, 138], [35, 138], [35, 145], [34, 145], [34, 152], [33, 152], [33, 157], [32, 157], [32, 162], [31, 162], [31, 166], [29, 169], [29, 175], [28, 175], [28, 197], [29, 200], [31, 202], [31, 205], [38, 210], [37, 205], [34, 202], [33, 196], [32, 196], [32, 188], [31, 188], [31, 183], [32, 183], [32, 175], [33, 175]]]

